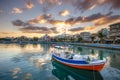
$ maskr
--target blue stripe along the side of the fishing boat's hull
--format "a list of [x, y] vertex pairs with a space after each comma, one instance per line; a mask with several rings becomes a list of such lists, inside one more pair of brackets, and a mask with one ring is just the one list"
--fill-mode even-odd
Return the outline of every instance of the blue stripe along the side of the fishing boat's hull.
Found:
[[55, 59], [58, 59], [62, 62], [71, 63], [71, 64], [88, 64], [88, 62], [86, 62], [86, 61], [78, 61], [78, 60], [70, 60], [70, 59], [68, 60], [68, 59], [63, 59], [63, 58], [57, 57], [55, 55], [52, 55], [52, 57]]

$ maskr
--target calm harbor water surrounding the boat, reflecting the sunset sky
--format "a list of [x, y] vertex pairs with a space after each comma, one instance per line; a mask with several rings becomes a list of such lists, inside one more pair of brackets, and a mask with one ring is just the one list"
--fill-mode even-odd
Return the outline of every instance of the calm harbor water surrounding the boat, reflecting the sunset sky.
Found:
[[71, 53], [107, 62], [100, 72], [51, 61], [51, 44], [0, 44], [0, 80], [120, 80], [120, 51], [74, 45]]

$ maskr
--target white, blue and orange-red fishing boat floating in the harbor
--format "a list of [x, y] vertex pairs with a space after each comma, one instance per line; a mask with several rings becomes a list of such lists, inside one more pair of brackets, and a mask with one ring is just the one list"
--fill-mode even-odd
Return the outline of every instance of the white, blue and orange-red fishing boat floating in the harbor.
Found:
[[99, 60], [80, 54], [73, 55], [69, 52], [57, 53], [56, 51], [52, 51], [52, 59], [69, 67], [94, 71], [101, 71], [106, 63], [105, 58]]

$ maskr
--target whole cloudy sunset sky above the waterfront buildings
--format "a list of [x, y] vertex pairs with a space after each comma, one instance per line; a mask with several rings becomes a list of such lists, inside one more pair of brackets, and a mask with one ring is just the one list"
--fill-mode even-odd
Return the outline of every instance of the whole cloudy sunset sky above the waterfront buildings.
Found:
[[95, 33], [120, 22], [120, 0], [0, 0], [0, 37]]

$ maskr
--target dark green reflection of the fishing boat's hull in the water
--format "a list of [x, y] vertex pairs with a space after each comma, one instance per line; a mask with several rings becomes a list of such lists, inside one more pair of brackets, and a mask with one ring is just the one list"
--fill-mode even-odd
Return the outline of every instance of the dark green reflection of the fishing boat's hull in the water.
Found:
[[101, 74], [96, 71], [75, 69], [52, 61], [52, 74], [59, 80], [103, 80]]

